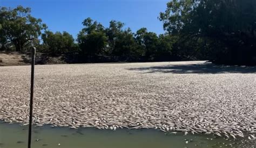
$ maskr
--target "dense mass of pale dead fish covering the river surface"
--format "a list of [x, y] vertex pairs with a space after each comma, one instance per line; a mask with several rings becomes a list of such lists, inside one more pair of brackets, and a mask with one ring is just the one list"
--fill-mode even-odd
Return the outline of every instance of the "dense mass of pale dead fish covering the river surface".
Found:
[[[205, 61], [39, 65], [34, 123], [253, 139], [256, 68]], [[0, 119], [28, 124], [30, 66], [0, 67]]]

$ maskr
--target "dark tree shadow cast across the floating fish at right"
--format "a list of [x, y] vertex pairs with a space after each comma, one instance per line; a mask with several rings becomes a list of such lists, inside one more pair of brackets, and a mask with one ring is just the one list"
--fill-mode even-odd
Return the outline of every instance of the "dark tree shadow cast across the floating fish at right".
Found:
[[252, 66], [227, 66], [214, 65], [211, 62], [200, 64], [165, 65], [129, 68], [131, 71], [144, 73], [173, 73], [173, 74], [221, 74], [221, 73], [256, 73], [256, 67]]

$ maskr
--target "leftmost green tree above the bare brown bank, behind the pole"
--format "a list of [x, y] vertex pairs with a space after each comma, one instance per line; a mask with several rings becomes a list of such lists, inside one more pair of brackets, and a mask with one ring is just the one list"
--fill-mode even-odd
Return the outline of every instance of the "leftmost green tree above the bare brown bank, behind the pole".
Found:
[[2, 48], [14, 45], [16, 51], [23, 52], [33, 39], [46, 29], [41, 19], [30, 15], [30, 8], [17, 6], [15, 9], [0, 7], [0, 44]]

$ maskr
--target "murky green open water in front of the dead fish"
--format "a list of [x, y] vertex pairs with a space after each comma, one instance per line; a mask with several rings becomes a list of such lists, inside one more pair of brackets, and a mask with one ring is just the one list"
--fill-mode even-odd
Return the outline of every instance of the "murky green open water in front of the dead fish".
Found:
[[[247, 140], [225, 140], [212, 135], [166, 134], [157, 130], [92, 128], [69, 129], [38, 126], [33, 128], [32, 147], [253, 147]], [[0, 147], [23, 148], [27, 146], [28, 126], [0, 123]], [[255, 144], [255, 143], [254, 143]]]

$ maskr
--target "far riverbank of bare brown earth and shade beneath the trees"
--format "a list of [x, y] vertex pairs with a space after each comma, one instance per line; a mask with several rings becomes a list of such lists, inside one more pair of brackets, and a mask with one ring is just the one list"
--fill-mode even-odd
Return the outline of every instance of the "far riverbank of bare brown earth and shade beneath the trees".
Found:
[[[160, 57], [149, 60], [146, 57], [126, 57], [113, 55], [80, 55], [79, 53], [59, 54], [52, 56], [47, 53], [36, 53], [36, 65], [58, 64], [92, 64], [92, 63], [122, 63], [122, 62], [159, 62], [159, 61], [190, 61], [186, 57]], [[31, 54], [21, 52], [0, 52], [0, 66], [24, 66], [31, 64]]]

